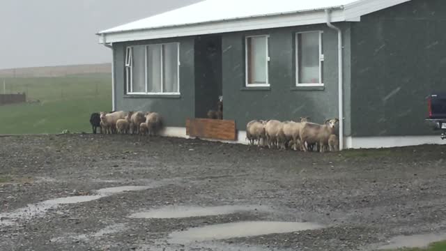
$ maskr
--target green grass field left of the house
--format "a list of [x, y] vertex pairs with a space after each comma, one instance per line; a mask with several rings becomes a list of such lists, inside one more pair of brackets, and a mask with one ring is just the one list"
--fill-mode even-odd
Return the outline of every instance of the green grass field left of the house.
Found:
[[25, 92], [28, 100], [40, 102], [0, 106], [0, 135], [91, 132], [90, 114], [112, 109], [109, 74], [5, 80], [6, 93]]

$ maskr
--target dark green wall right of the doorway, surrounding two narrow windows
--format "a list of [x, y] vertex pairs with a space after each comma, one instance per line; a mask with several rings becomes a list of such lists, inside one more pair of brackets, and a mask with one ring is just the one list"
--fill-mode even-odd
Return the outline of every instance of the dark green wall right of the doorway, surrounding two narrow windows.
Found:
[[[344, 40], [349, 41], [350, 24], [337, 25], [344, 30]], [[319, 30], [323, 31], [325, 88], [296, 88], [295, 33]], [[245, 87], [245, 36], [252, 35], [270, 36], [270, 88]], [[349, 45], [349, 42], [346, 43], [344, 50], [350, 50]], [[235, 120], [237, 128], [245, 130], [246, 123], [252, 119], [284, 121], [310, 116], [312, 121], [322, 123], [325, 119], [337, 117], [337, 53], [337, 31], [325, 24], [222, 34], [224, 119]], [[349, 61], [349, 56], [344, 61]], [[349, 63], [346, 63], [346, 81], [350, 80], [349, 67]]]

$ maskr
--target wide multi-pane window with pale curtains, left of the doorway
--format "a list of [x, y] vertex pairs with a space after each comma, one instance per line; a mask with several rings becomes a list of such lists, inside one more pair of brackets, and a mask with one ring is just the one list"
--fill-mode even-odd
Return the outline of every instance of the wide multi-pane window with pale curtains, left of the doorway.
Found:
[[128, 94], [178, 94], [179, 44], [135, 45], [125, 52]]

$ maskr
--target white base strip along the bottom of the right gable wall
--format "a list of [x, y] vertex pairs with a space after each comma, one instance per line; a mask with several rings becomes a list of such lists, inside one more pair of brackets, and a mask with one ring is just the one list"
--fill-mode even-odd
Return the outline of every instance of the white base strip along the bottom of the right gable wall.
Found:
[[445, 139], [436, 136], [388, 136], [388, 137], [345, 137], [346, 149], [379, 149], [422, 144], [446, 144]]

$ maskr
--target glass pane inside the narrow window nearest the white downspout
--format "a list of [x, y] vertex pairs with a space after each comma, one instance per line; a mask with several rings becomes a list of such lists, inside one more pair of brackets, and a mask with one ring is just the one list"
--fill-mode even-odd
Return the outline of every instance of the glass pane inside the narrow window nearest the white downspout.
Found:
[[319, 32], [298, 34], [299, 83], [320, 83], [319, 60]]

